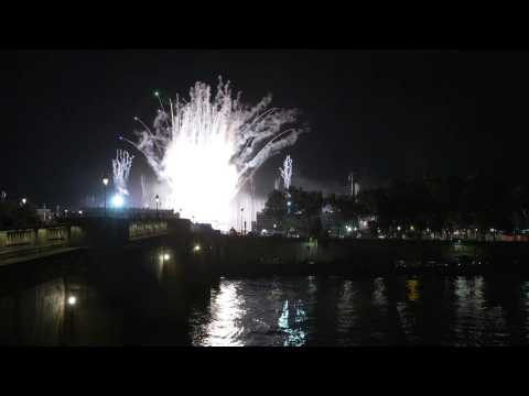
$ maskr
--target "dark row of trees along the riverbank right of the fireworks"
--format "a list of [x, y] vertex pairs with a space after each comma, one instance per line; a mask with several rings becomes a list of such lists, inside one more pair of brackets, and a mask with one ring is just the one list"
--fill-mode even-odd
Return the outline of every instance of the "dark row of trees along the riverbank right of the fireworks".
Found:
[[317, 233], [325, 231], [321, 213], [326, 205], [344, 222], [376, 218], [369, 223], [374, 232], [411, 227], [415, 232], [477, 229], [485, 233], [494, 229], [516, 234], [529, 228], [528, 185], [486, 176], [393, 180], [385, 187], [363, 190], [356, 198], [324, 197], [322, 193], [291, 187], [288, 193], [272, 191], [263, 213], [283, 223], [305, 223], [304, 231]]

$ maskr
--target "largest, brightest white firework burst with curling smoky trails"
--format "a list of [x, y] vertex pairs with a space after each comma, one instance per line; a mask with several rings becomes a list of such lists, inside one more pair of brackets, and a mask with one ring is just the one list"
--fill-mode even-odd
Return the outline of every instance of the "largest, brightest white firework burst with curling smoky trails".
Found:
[[[158, 97], [158, 92], [155, 94]], [[160, 97], [159, 97], [160, 99]], [[272, 155], [295, 143], [303, 129], [284, 127], [296, 110], [268, 108], [271, 96], [255, 106], [231, 95], [222, 78], [215, 97], [204, 82], [161, 109], [153, 128], [137, 132], [133, 144], [144, 154], [160, 182], [170, 190], [170, 207], [182, 216], [219, 229], [230, 224], [230, 204], [253, 173]]]

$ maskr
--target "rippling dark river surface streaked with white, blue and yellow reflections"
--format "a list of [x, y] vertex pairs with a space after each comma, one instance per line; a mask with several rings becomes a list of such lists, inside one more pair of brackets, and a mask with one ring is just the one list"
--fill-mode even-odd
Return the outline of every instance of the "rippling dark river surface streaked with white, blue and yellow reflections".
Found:
[[194, 345], [527, 344], [529, 282], [496, 282], [223, 279], [208, 310], [192, 314], [192, 339]]

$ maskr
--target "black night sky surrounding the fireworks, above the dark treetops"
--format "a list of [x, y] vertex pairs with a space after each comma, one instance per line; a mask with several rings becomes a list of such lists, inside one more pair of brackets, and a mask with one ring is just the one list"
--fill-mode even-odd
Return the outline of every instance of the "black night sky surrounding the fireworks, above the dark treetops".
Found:
[[118, 136], [133, 136], [134, 116], [152, 121], [154, 90], [187, 96], [219, 75], [245, 102], [271, 92], [311, 128], [258, 172], [261, 194], [288, 153], [305, 188], [345, 188], [352, 169], [370, 185], [527, 173], [529, 52], [2, 51], [0, 65], [0, 189], [37, 205], [99, 194], [116, 148], [134, 151]]

